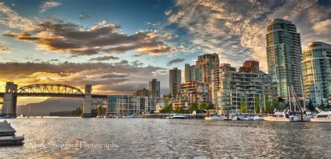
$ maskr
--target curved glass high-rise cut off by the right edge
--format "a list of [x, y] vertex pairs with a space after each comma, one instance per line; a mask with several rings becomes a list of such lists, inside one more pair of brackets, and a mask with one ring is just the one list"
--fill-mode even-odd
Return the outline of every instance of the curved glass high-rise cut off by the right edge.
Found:
[[302, 56], [304, 97], [313, 105], [331, 103], [331, 45], [322, 42], [308, 44]]

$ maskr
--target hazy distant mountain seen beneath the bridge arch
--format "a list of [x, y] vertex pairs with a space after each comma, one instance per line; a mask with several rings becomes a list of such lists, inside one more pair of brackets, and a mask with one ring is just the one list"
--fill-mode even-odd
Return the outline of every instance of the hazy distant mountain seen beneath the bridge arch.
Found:
[[50, 112], [71, 111], [82, 107], [82, 98], [48, 98], [41, 103], [30, 103], [27, 105], [17, 105], [17, 116], [29, 114], [30, 116], [48, 116]]

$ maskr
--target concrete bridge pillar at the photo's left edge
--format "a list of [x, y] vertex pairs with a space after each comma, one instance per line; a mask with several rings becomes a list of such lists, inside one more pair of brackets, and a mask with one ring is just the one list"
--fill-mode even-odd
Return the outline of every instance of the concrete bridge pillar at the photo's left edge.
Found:
[[1, 116], [7, 118], [16, 118], [17, 96], [14, 96], [14, 93], [16, 93], [16, 91], [17, 84], [14, 84], [13, 82], [6, 83], [6, 92], [3, 96]]

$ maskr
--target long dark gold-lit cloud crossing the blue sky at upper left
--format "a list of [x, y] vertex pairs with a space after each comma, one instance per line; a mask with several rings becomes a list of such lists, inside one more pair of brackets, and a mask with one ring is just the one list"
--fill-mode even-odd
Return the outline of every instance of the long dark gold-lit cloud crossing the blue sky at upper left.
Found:
[[128, 35], [120, 32], [119, 26], [105, 24], [105, 21], [97, 22], [94, 27], [87, 29], [71, 22], [52, 21], [36, 24], [34, 31], [6, 32], [3, 36], [36, 43], [37, 50], [73, 55], [124, 53], [129, 50], [137, 50], [138, 54], [168, 54], [179, 51], [163, 42], [177, 36], [160, 35], [155, 30], [137, 31]]

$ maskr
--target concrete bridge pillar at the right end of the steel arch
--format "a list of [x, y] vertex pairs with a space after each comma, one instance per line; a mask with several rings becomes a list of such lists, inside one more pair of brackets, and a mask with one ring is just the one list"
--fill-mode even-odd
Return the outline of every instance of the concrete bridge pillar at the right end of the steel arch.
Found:
[[85, 85], [85, 96], [84, 104], [82, 108], [82, 117], [89, 118], [92, 117], [91, 105], [92, 105], [92, 96], [91, 96], [92, 86], [91, 84]]

